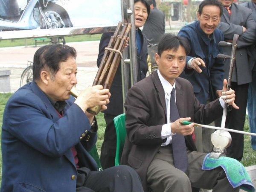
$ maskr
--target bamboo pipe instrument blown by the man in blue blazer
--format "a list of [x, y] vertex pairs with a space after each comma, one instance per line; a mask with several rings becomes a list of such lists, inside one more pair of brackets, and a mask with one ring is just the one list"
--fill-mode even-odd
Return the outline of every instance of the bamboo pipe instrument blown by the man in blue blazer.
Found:
[[[119, 22], [116, 27], [116, 31], [111, 36], [108, 47], [105, 48], [99, 70], [96, 73], [95, 79], [93, 81], [93, 86], [102, 85], [103, 89], [109, 89], [111, 87], [112, 81], [116, 74], [116, 70], [122, 58], [122, 51], [125, 47], [128, 34], [131, 31], [131, 23], [125, 23], [122, 27], [122, 30], [121, 26], [122, 22]], [[78, 96], [74, 90], [71, 90], [70, 94], [74, 97]], [[98, 114], [100, 110], [101, 106], [99, 105], [87, 109], [89, 113], [94, 115]]]

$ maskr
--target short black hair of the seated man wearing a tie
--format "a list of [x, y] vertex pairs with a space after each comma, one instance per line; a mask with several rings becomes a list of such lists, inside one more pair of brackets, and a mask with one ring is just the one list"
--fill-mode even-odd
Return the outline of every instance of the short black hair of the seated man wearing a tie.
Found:
[[157, 54], [161, 56], [164, 51], [171, 49], [177, 51], [180, 46], [185, 49], [186, 55], [188, 55], [190, 52], [190, 47], [186, 38], [176, 36], [171, 33], [164, 34], [157, 46]]

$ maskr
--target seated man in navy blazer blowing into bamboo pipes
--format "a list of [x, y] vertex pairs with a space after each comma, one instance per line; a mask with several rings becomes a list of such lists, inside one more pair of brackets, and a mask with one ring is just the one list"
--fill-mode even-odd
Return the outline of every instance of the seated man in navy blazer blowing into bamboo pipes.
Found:
[[87, 151], [97, 139], [87, 108], [109, 102], [101, 85], [83, 90], [76, 101], [76, 50], [46, 45], [35, 52], [33, 81], [17, 90], [3, 114], [1, 192], [143, 191], [128, 166], [97, 172]]

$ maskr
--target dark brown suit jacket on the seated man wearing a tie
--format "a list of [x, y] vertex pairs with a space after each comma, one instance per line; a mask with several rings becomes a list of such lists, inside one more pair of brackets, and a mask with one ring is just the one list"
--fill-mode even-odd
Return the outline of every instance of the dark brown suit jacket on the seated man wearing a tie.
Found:
[[[191, 117], [192, 122], [209, 124], [222, 114], [218, 99], [200, 105], [195, 98], [192, 84], [186, 79], [176, 79], [176, 101], [180, 117]], [[127, 137], [121, 163], [134, 168], [146, 187], [146, 172], [161, 144], [162, 125], [167, 123], [166, 101], [157, 72], [135, 84], [125, 101]], [[186, 146], [195, 151], [191, 135], [186, 136]]]

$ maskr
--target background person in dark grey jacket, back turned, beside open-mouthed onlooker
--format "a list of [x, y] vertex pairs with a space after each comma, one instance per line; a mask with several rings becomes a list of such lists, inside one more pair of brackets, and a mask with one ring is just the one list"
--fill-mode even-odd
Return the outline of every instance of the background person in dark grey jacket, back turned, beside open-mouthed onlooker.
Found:
[[150, 4], [150, 14], [146, 20], [142, 32], [152, 44], [157, 44], [161, 36], [165, 33], [164, 13], [157, 9], [155, 0], [148, 0]]

